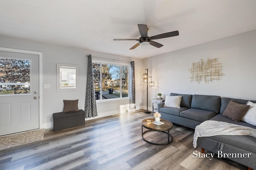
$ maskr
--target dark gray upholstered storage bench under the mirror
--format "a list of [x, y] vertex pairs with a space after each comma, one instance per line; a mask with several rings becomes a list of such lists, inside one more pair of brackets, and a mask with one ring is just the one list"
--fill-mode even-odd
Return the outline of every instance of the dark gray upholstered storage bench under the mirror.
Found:
[[85, 112], [80, 109], [75, 112], [53, 113], [53, 131], [85, 125]]

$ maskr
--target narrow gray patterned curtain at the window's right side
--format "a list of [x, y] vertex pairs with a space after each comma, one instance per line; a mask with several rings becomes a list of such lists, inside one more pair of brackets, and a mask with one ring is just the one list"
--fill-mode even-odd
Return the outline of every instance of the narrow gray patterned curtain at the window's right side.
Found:
[[131, 94], [130, 94], [130, 109], [136, 109], [135, 104], [135, 70], [134, 61], [131, 61]]

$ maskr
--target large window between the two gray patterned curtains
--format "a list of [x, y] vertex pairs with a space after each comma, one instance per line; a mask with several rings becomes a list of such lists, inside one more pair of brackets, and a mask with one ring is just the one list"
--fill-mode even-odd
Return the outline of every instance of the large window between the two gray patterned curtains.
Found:
[[129, 98], [130, 64], [93, 61], [96, 100]]

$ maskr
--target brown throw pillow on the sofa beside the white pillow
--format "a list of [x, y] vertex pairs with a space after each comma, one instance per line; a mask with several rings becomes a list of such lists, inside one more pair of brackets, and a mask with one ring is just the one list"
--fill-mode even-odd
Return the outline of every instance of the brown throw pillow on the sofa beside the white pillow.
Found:
[[234, 101], [230, 101], [222, 115], [232, 119], [233, 121], [238, 122], [242, 119], [249, 107], [249, 105], [239, 104]]

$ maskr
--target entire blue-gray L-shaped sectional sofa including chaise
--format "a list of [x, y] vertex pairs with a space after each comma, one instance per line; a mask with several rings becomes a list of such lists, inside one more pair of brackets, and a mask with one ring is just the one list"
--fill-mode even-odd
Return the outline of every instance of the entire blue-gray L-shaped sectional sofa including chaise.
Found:
[[[195, 129], [197, 125], [206, 120], [224, 121], [237, 125], [243, 125], [256, 129], [244, 121], [236, 122], [228, 117], [224, 117], [222, 113], [232, 100], [236, 103], [246, 104], [248, 100], [234, 98], [220, 98], [220, 96], [208, 95], [190, 95], [171, 93], [170, 96], [182, 96], [180, 103], [181, 108], [163, 107], [164, 103], [158, 104], [158, 112], [161, 113], [161, 118], [167, 119], [172, 123], [176, 123], [185, 127]], [[252, 101], [256, 103], [256, 101]], [[217, 135], [212, 137], [199, 137], [197, 146], [218, 153], [247, 153], [250, 158], [228, 158], [245, 166], [248, 169], [256, 169], [256, 138], [251, 136], [239, 135]], [[250, 167], [250, 168], [249, 168]]]

